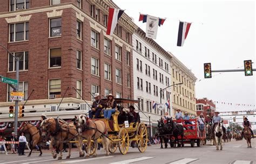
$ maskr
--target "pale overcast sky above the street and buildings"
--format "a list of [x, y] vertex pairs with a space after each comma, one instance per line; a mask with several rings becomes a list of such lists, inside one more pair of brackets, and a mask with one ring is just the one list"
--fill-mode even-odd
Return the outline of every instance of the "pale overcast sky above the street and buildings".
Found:
[[[166, 18], [158, 27], [156, 41], [192, 69], [198, 81], [196, 97], [232, 104], [256, 102], [256, 72], [213, 73], [204, 80], [203, 63], [211, 62], [212, 69], [244, 68], [243, 61], [255, 64], [255, 2], [254, 1], [170, 1], [170, 0], [113, 0], [145, 31], [146, 23], [138, 22], [139, 12]], [[179, 20], [192, 22], [183, 47], [177, 47]], [[241, 69], [240, 68], [240, 69]], [[216, 104], [219, 111], [252, 110], [255, 106]], [[255, 117], [254, 117], [255, 121]]]

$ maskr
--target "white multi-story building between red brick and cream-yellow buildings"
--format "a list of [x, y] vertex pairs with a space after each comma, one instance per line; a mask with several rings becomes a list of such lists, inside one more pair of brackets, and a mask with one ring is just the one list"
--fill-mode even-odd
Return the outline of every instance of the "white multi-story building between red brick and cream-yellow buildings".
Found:
[[[171, 85], [171, 55], [161, 48], [153, 39], [146, 38], [145, 32], [138, 28], [132, 37], [133, 44], [133, 84], [134, 99], [140, 100], [138, 108], [141, 120], [149, 124], [149, 116], [152, 127], [157, 126], [161, 111], [153, 109], [153, 103], [160, 103], [160, 90]], [[162, 92], [161, 103], [170, 100], [171, 89]], [[171, 101], [170, 102], [170, 106]], [[170, 108], [171, 109], [171, 108]], [[165, 105], [165, 111], [171, 112]], [[154, 134], [154, 129], [153, 133]]]

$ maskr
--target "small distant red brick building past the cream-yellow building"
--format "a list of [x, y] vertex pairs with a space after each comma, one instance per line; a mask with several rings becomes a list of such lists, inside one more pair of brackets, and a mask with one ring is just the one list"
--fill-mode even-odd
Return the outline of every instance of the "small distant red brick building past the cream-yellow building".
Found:
[[214, 116], [215, 109], [216, 109], [216, 106], [212, 100], [209, 100], [207, 98], [197, 99], [197, 115], [198, 116], [200, 116], [201, 113], [203, 113], [205, 118], [207, 115], [210, 116], [211, 118], [212, 116]]

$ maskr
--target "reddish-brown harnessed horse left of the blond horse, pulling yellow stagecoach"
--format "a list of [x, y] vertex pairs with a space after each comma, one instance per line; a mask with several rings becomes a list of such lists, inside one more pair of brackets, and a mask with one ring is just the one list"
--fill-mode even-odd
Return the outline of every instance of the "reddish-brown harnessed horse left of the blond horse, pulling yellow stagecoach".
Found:
[[[71, 144], [69, 141], [72, 139], [78, 140], [78, 133], [76, 130], [76, 126], [71, 123], [67, 123], [63, 120], [59, 120], [57, 118], [48, 118], [43, 120], [41, 123], [42, 128], [42, 138], [46, 138], [48, 136], [48, 133], [51, 135], [51, 144], [49, 146], [49, 149], [51, 150], [52, 157], [55, 159], [57, 157], [57, 153], [53, 151], [53, 144], [56, 143], [57, 147], [59, 146], [59, 149], [63, 149], [63, 142], [68, 142], [69, 144], [69, 155], [66, 156], [66, 159], [70, 158], [71, 155]], [[81, 145], [76, 143], [76, 146], [79, 150], [79, 156], [84, 156], [84, 152], [82, 151]], [[58, 160], [62, 159], [62, 151], [59, 153]]]

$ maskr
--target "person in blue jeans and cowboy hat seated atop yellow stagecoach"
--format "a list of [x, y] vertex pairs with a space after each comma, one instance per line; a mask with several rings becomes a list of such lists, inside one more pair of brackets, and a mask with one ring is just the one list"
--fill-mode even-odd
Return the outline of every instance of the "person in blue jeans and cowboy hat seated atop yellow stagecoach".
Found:
[[117, 102], [112, 94], [107, 95], [106, 107], [104, 118], [110, 119], [111, 115], [117, 111]]

